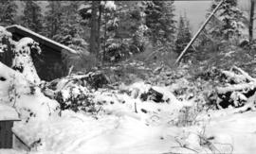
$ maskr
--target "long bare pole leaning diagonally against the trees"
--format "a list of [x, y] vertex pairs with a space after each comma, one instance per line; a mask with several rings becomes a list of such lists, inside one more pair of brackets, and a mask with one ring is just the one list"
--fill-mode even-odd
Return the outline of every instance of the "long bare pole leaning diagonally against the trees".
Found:
[[221, 7], [221, 5], [224, 3], [225, 0], [222, 0], [218, 6], [210, 13], [210, 16], [205, 21], [205, 23], [199, 28], [199, 30], [195, 33], [195, 35], [192, 37], [192, 40], [188, 45], [185, 47], [185, 49], [181, 52], [175, 63], [177, 64], [179, 60], [181, 60], [182, 56], [186, 53], [186, 51], [191, 47], [192, 43], [196, 40], [196, 38], [199, 36], [201, 31], [205, 28], [205, 26], [210, 22], [211, 17], [214, 15], [214, 13]]

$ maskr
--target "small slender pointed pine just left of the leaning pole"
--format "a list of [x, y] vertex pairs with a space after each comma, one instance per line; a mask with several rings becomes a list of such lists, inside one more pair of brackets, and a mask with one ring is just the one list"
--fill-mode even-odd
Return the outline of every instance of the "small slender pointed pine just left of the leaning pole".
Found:
[[191, 39], [192, 33], [190, 30], [190, 23], [186, 16], [180, 16], [175, 40], [175, 52], [180, 54]]

